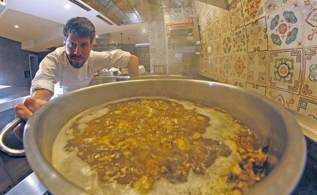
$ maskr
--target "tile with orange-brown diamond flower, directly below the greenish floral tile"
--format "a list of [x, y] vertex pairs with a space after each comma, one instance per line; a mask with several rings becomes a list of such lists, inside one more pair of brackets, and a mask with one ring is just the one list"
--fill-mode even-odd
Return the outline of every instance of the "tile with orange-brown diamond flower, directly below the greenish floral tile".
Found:
[[246, 72], [247, 72], [247, 62], [246, 62], [246, 55], [239, 54], [233, 56], [233, 70], [232, 75], [236, 79], [246, 79]]

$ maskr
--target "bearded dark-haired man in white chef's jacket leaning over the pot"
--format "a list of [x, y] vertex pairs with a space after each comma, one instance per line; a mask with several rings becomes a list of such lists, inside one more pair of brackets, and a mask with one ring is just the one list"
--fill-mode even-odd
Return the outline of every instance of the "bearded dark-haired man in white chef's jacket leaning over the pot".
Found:
[[[70, 19], [64, 28], [64, 47], [48, 54], [40, 63], [40, 68], [32, 81], [31, 97], [15, 106], [15, 113], [24, 121], [54, 93], [54, 84], [59, 83], [64, 93], [86, 87], [94, 70], [116, 66], [128, 67], [131, 77], [138, 76], [138, 58], [129, 52], [92, 51], [92, 41], [96, 33], [93, 24], [84, 17]], [[19, 139], [23, 136], [25, 123], [14, 132]]]

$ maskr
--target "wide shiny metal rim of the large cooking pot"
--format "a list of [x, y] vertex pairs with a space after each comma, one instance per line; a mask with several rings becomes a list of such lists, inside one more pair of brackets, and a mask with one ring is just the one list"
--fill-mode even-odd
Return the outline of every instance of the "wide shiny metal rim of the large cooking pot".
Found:
[[[282, 154], [282, 157], [279, 163], [273, 168], [273, 170], [263, 179], [261, 182], [257, 183], [255, 186], [244, 192], [244, 195], [267, 195], [267, 194], [290, 194], [296, 184], [298, 183], [306, 163], [306, 144], [304, 136], [301, 132], [299, 125], [297, 124], [294, 116], [284, 107], [279, 106], [273, 100], [264, 97], [263, 95], [257, 94], [255, 92], [248, 91], [246, 89], [241, 89], [235, 86], [230, 86], [227, 84], [208, 82], [208, 81], [199, 81], [199, 80], [184, 80], [184, 79], [150, 79], [150, 80], [135, 80], [135, 81], [124, 81], [119, 83], [108, 83], [96, 86], [90, 86], [82, 89], [78, 89], [72, 92], [69, 92], [65, 95], [56, 97], [41, 108], [39, 108], [33, 116], [27, 121], [24, 129], [23, 143], [26, 152], [27, 160], [30, 164], [30, 167], [35, 171], [37, 176], [43, 182], [43, 184], [52, 192], [62, 192], [61, 194], [88, 194], [83, 189], [73, 184], [67, 180], [64, 176], [59, 174], [57, 170], [45, 159], [42, 154], [38, 143], [36, 142], [37, 135], [35, 134], [35, 127], [37, 121], [40, 120], [41, 114], [48, 109], [50, 106], [53, 106], [55, 102], [62, 100], [62, 98], [67, 98], [73, 96], [76, 93], [81, 93], [83, 91], [100, 88], [102, 86], [110, 85], [124, 85], [125, 83], [138, 83], [138, 82], [155, 82], [157, 80], [167, 81], [167, 82], [195, 82], [197, 84], [205, 85], [215, 85], [224, 87], [226, 89], [236, 90], [241, 93], [246, 93], [257, 99], [261, 99], [268, 106], [270, 106], [274, 111], [276, 111], [284, 125], [286, 125], [288, 142], [286, 149]], [[63, 189], [56, 189], [56, 185], [62, 183], [64, 186]], [[272, 186], [275, 186], [274, 189]], [[53, 189], [53, 190], [52, 190]], [[59, 194], [59, 193], [58, 193]]]

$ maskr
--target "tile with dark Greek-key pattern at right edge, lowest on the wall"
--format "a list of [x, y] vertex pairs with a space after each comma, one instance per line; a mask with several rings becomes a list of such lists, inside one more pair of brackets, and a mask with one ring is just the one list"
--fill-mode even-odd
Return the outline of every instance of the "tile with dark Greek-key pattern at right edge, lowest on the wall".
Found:
[[317, 101], [300, 98], [297, 111], [310, 119], [317, 121]]

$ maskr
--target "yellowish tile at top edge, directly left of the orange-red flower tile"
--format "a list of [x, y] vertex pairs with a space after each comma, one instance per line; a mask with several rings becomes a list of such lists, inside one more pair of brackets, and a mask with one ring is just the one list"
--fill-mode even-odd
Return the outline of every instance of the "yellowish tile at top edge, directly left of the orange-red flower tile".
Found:
[[244, 14], [241, 1], [229, 10], [229, 15], [231, 20], [231, 31], [244, 26]]

